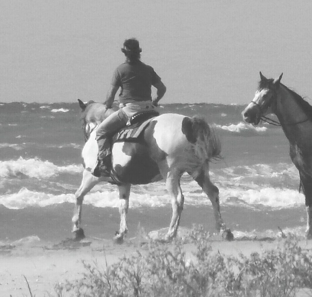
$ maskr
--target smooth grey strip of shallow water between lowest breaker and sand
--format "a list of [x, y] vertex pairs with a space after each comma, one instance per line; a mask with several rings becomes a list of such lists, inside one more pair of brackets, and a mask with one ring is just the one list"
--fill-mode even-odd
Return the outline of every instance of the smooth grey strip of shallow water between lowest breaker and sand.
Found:
[[[38, 236], [40, 240], [57, 242], [71, 236], [71, 217], [74, 204], [62, 203], [47, 207], [27, 207], [20, 210], [7, 209], [0, 205], [0, 245], [19, 240], [27, 236]], [[171, 219], [171, 205], [155, 208], [129, 209], [127, 224], [129, 237], [134, 237], [138, 228], [147, 232], [166, 228]], [[253, 232], [255, 234], [278, 227], [300, 228], [306, 224], [305, 206], [298, 208], [272, 210], [253, 210], [239, 206], [221, 205], [221, 215], [232, 232]], [[119, 211], [117, 208], [99, 208], [83, 205], [81, 227], [86, 236], [110, 240], [119, 229]], [[204, 229], [215, 232], [215, 220], [211, 205], [184, 205], [180, 226], [192, 228], [201, 224]], [[300, 235], [300, 234], [299, 234]]]

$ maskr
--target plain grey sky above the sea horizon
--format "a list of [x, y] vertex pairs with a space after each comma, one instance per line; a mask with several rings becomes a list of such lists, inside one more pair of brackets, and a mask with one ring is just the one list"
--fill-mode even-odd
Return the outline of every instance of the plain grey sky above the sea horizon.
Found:
[[260, 70], [312, 97], [311, 13], [310, 0], [2, 0], [0, 101], [104, 101], [129, 37], [163, 103], [245, 104]]

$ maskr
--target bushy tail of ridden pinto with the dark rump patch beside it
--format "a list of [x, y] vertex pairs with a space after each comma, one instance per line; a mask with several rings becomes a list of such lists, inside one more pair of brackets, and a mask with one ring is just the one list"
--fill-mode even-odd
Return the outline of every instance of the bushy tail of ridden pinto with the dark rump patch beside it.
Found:
[[207, 121], [198, 116], [185, 117], [182, 131], [192, 143], [196, 157], [202, 162], [221, 159], [221, 141]]

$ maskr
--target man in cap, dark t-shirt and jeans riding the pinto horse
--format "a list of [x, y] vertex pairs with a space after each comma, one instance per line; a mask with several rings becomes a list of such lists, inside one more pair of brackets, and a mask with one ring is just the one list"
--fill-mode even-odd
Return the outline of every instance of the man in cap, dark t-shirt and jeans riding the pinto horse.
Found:
[[[111, 108], [119, 87], [119, 110], [108, 116], [98, 127], [96, 140], [99, 146], [98, 159], [92, 169], [94, 176], [110, 176], [111, 136], [126, 126], [129, 119], [137, 112], [150, 111], [166, 92], [166, 86], [154, 69], [140, 61], [142, 49], [135, 38], [126, 39], [121, 51], [126, 61], [119, 65], [113, 75], [107, 92], [105, 105]], [[157, 89], [152, 100], [151, 86]]]

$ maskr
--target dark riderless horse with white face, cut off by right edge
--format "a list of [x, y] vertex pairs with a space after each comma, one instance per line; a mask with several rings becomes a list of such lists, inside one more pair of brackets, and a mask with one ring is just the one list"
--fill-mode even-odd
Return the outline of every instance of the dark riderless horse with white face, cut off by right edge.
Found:
[[[260, 72], [255, 97], [242, 111], [243, 120], [280, 125], [290, 144], [290, 158], [299, 171], [307, 212], [306, 237], [312, 238], [312, 106], [283, 85], [280, 77], [267, 79]], [[274, 113], [279, 122], [266, 117]]]

